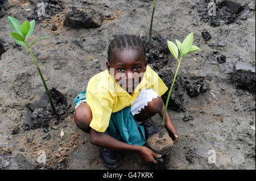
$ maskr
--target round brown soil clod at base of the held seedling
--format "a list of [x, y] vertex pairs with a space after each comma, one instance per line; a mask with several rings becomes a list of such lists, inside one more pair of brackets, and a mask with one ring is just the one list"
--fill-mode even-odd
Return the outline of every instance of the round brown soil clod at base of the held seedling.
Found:
[[164, 155], [172, 148], [174, 141], [170, 138], [167, 133], [163, 133], [163, 137], [159, 138], [159, 133], [154, 134], [147, 140], [147, 145], [156, 154]]

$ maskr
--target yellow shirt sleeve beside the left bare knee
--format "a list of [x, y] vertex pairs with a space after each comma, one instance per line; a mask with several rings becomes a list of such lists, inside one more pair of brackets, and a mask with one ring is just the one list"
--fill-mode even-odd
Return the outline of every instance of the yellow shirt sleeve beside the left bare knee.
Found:
[[[96, 90], [97, 89], [97, 90]], [[107, 91], [100, 91], [100, 87], [88, 83], [86, 103], [92, 110], [90, 127], [97, 132], [105, 132], [109, 127], [110, 116], [113, 111], [114, 99]]]

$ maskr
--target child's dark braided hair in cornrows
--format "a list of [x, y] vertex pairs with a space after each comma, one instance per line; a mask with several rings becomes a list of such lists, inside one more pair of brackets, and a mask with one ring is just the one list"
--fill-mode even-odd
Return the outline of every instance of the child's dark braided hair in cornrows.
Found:
[[110, 62], [113, 57], [113, 50], [124, 50], [133, 49], [142, 51], [142, 55], [146, 60], [146, 48], [143, 40], [135, 35], [119, 35], [116, 36], [112, 41], [110, 41], [108, 49], [108, 61]]

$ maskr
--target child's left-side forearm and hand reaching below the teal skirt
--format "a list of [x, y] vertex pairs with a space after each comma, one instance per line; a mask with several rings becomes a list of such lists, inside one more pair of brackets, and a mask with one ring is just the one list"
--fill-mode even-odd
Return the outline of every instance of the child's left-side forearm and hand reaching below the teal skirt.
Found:
[[147, 163], [157, 163], [154, 157], [161, 157], [161, 155], [155, 154], [154, 151], [148, 149], [146, 146], [126, 144], [125, 142], [115, 140], [115, 138], [109, 136], [106, 133], [97, 132], [93, 128], [90, 129], [90, 142], [93, 145], [101, 146], [111, 150], [135, 151], [139, 154], [139, 157], [141, 157], [141, 159]]

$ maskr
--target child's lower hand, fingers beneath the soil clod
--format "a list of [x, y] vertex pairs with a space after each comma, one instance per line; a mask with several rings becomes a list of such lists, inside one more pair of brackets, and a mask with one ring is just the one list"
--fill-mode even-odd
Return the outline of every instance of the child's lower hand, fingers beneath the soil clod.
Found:
[[155, 163], [156, 164], [158, 161], [156, 161], [154, 159], [154, 157], [155, 158], [162, 157], [162, 155], [154, 153], [154, 151], [147, 148], [146, 146], [142, 146], [141, 150], [139, 150], [138, 154], [139, 154], [139, 157], [141, 157], [141, 159], [146, 163]]

